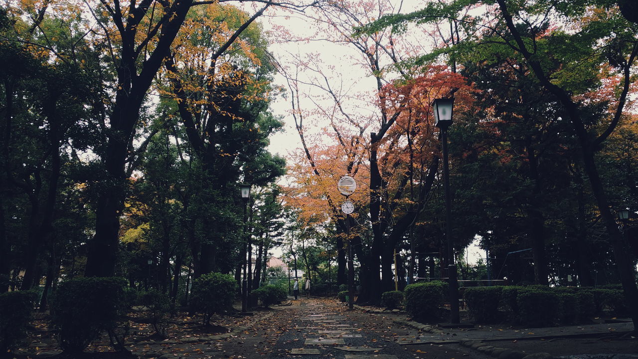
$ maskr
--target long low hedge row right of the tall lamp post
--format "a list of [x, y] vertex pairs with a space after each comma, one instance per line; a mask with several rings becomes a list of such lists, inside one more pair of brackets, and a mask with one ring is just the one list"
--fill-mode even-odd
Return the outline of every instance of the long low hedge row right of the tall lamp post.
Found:
[[[477, 323], [503, 320], [527, 326], [582, 323], [607, 309], [627, 314], [620, 289], [505, 286], [466, 288], [464, 298]], [[501, 309], [501, 310], [500, 310]]]

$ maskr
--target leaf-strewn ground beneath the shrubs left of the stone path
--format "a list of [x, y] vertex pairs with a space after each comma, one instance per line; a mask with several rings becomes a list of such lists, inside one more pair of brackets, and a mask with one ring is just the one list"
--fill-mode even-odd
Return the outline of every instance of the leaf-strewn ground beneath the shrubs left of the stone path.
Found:
[[[286, 314], [285, 309], [259, 308], [253, 310], [253, 316], [215, 316], [211, 326], [203, 326], [200, 316], [178, 312], [167, 318], [165, 336], [155, 333], [144, 311], [133, 311], [128, 314], [126, 347], [139, 358], [255, 358], [271, 353], [278, 336], [288, 330], [294, 316]], [[70, 358], [61, 353], [49, 319], [45, 313], [34, 313], [28, 338], [15, 351], [15, 358]], [[94, 340], [82, 357], [124, 358], [114, 352], [107, 333]]]

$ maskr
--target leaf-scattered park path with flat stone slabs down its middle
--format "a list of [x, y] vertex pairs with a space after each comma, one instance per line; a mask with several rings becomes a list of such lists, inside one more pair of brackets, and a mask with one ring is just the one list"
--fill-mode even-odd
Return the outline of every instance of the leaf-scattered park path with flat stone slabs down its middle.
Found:
[[[289, 326], [268, 358], [335, 359], [415, 359], [415, 358], [485, 358], [460, 346], [442, 348], [429, 345], [414, 349], [402, 344], [414, 338], [415, 330], [392, 323], [392, 316], [348, 311], [334, 302], [315, 299], [294, 301], [285, 309]], [[423, 348], [423, 347], [419, 347]]]

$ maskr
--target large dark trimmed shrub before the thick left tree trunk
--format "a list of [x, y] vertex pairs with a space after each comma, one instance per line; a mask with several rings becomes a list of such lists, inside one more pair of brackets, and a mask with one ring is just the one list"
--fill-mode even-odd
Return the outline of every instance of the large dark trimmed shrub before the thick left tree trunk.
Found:
[[62, 282], [51, 300], [51, 324], [63, 351], [78, 353], [102, 330], [113, 332], [125, 309], [126, 280], [119, 277], [78, 278]]

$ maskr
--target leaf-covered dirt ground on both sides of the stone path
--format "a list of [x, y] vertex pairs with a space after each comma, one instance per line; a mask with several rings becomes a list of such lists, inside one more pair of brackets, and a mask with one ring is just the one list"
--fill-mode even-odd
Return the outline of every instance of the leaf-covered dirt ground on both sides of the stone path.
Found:
[[[396, 338], [401, 335], [419, 335], [419, 330], [410, 326], [396, 323], [395, 319], [406, 319], [405, 314], [369, 313], [361, 310], [346, 310], [345, 305], [332, 299], [305, 298], [293, 301], [292, 305], [273, 307], [272, 309], [253, 310], [251, 316], [241, 316], [234, 313], [228, 316], [215, 317], [215, 326], [203, 328], [199, 316], [190, 316], [180, 312], [168, 319], [168, 337], [165, 339], [152, 336], [152, 326], [148, 323], [143, 311], [130, 313], [131, 333], [127, 348], [138, 358], [282, 358], [290, 356], [293, 344], [302, 340], [299, 335], [290, 335], [299, 326], [300, 305], [308, 303], [322, 303], [325, 308], [338, 315], [345, 316], [352, 323], [358, 323], [362, 332], [368, 333], [371, 341], [387, 347], [399, 348], [396, 355], [399, 358], [428, 358], [428, 359], [486, 359], [490, 356], [479, 353], [475, 349], [466, 348], [461, 344], [417, 344], [397, 346]], [[477, 326], [475, 334], [483, 330], [486, 337], [489, 331], [513, 330], [503, 327]], [[489, 345], [500, 348], [514, 349], [524, 353], [550, 353], [553, 356], [599, 355], [591, 358], [604, 358], [601, 355], [625, 354], [637, 355], [638, 339], [621, 333], [605, 333], [586, 338], [551, 339], [519, 339], [490, 341]], [[96, 340], [81, 358], [118, 359], [126, 358], [122, 353], [114, 353], [108, 343], [108, 336], [103, 335]], [[15, 352], [15, 358], [80, 358], [80, 356], [62, 356], [57, 346], [54, 332], [48, 328], [47, 314], [37, 313], [34, 316], [33, 328], [29, 330], [26, 344]], [[409, 356], [408, 356], [409, 355]], [[129, 358], [131, 356], [128, 356]], [[300, 356], [296, 356], [300, 358]], [[343, 356], [341, 356], [343, 357]], [[627, 356], [631, 357], [631, 356]], [[339, 356], [336, 356], [339, 358]]]

